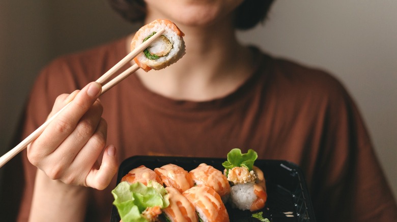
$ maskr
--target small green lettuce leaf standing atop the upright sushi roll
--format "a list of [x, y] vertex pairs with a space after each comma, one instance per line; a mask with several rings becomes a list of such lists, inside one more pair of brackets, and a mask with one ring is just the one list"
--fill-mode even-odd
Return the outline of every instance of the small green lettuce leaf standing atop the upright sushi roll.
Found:
[[226, 169], [226, 175], [233, 167], [246, 167], [251, 171], [257, 158], [257, 152], [251, 149], [246, 154], [242, 154], [240, 149], [235, 148], [228, 153], [228, 161], [223, 162], [222, 166]]

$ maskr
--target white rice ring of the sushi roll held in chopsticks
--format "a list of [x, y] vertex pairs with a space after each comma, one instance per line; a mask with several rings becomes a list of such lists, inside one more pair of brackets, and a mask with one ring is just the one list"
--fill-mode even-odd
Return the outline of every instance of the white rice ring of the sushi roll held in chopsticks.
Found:
[[[171, 65], [172, 63], [176, 62], [179, 58], [181, 58], [185, 54], [185, 43], [181, 36], [179, 36], [174, 30], [170, 27], [168, 27], [166, 24], [161, 23], [161, 24], [156, 24], [152, 28], [147, 28], [142, 30], [140, 35], [138, 36], [138, 39], [136, 41], [135, 48], [137, 45], [141, 44], [147, 36], [151, 35], [153, 31], [158, 32], [162, 28], [165, 29], [162, 35], [164, 35], [169, 42], [173, 45], [173, 48], [171, 51], [166, 56], [160, 57], [155, 60], [150, 60], [148, 59], [144, 53], [140, 53], [137, 56], [137, 59], [139, 62], [144, 63], [148, 65], [149, 67], [153, 69], [162, 69], [168, 65]], [[157, 40], [156, 40], [157, 41]], [[156, 45], [156, 41], [152, 45]], [[160, 43], [161, 44], [161, 43]]]

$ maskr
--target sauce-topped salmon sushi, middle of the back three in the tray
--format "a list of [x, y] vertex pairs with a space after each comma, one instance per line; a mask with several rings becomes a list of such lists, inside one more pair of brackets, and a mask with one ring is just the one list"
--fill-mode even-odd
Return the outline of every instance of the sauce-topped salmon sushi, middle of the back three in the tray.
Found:
[[194, 186], [190, 174], [178, 165], [166, 164], [155, 168], [154, 172], [160, 176], [166, 187], [176, 188], [181, 193]]

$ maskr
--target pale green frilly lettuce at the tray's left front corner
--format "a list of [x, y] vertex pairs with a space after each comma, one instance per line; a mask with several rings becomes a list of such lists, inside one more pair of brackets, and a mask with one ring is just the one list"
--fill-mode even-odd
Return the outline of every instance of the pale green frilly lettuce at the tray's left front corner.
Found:
[[167, 191], [155, 181], [150, 181], [148, 186], [141, 182], [129, 184], [123, 181], [111, 193], [115, 198], [113, 204], [123, 222], [145, 222], [147, 220], [141, 213], [147, 207], [159, 206], [162, 209], [169, 205]]

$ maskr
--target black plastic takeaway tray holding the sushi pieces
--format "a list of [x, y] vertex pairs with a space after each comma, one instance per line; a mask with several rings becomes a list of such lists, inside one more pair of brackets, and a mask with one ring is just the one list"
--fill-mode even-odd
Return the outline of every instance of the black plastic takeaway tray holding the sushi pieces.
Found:
[[[190, 171], [200, 163], [206, 163], [223, 171], [221, 158], [157, 157], [134, 156], [124, 160], [119, 168], [117, 181], [131, 169], [145, 165], [150, 169], [173, 163]], [[305, 179], [300, 168], [291, 162], [281, 160], [256, 160], [255, 165], [262, 169], [266, 179], [268, 199], [261, 211], [263, 217], [272, 222], [314, 222], [313, 205], [307, 191]], [[259, 221], [252, 217], [249, 210], [232, 209], [228, 204], [230, 221]], [[111, 212], [111, 222], [119, 222], [120, 216], [115, 206]]]

